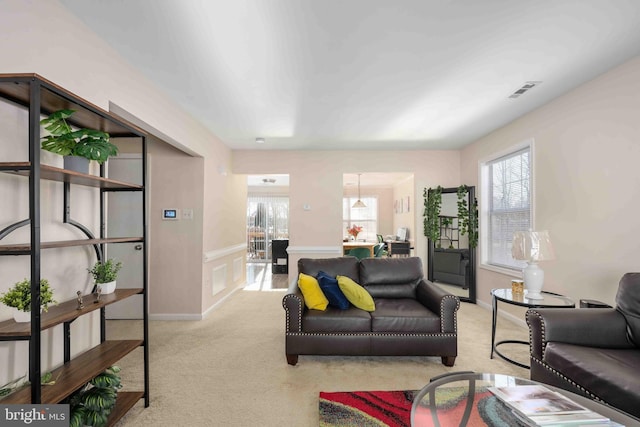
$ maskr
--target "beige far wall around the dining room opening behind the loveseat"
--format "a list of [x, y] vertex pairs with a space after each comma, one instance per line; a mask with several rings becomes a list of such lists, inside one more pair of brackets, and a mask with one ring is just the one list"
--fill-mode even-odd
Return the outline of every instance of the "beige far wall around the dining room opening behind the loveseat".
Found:
[[[460, 182], [458, 151], [235, 151], [233, 172], [289, 174], [289, 263], [303, 257], [339, 256], [342, 251], [342, 175], [367, 172], [412, 172], [413, 185], [394, 189], [394, 197], [410, 196], [413, 211], [402, 219], [410, 229], [414, 253], [426, 259], [422, 235], [422, 190]], [[402, 193], [402, 194], [399, 194]], [[310, 210], [304, 210], [309, 205]], [[410, 219], [409, 219], [410, 218]], [[395, 231], [393, 231], [395, 233]], [[297, 269], [290, 268], [289, 276]]]

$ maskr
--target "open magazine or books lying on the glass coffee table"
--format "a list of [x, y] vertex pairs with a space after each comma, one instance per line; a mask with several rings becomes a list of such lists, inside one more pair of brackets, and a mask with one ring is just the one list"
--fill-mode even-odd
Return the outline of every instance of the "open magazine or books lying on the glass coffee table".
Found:
[[620, 426], [543, 385], [490, 387], [489, 390], [530, 426]]

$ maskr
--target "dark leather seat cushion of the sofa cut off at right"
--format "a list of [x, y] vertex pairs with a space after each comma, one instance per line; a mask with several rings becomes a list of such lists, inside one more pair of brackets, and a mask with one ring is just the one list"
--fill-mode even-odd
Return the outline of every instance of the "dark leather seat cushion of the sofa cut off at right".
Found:
[[550, 342], [544, 351], [544, 361], [608, 404], [637, 413], [640, 404], [638, 350]]

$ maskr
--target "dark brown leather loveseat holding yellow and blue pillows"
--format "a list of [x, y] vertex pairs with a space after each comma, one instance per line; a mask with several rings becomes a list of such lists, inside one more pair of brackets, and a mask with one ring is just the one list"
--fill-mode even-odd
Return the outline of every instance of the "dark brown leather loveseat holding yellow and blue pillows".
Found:
[[457, 311], [460, 300], [423, 279], [420, 258], [355, 257], [298, 261], [298, 272], [347, 276], [373, 297], [367, 312], [328, 307], [308, 310], [302, 293], [285, 295], [285, 353], [298, 355], [440, 356], [453, 366], [458, 355]]

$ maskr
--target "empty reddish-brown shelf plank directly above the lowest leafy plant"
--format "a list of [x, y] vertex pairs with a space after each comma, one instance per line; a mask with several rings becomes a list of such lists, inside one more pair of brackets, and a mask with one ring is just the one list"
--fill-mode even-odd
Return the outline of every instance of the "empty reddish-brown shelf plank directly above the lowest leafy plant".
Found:
[[[56, 383], [42, 386], [42, 403], [58, 403], [92, 378], [142, 345], [142, 340], [105, 341], [54, 369]], [[21, 387], [0, 400], [1, 404], [31, 403], [31, 386]]]

